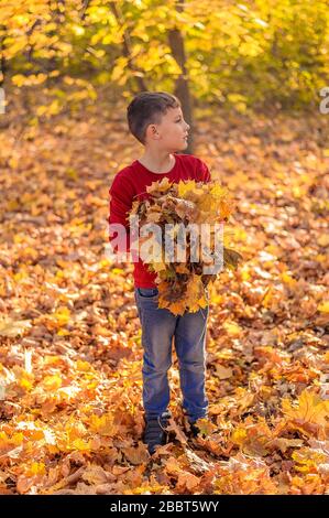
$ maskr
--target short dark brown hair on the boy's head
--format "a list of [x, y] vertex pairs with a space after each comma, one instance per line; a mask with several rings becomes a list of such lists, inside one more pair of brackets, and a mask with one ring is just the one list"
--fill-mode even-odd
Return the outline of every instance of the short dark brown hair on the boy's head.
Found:
[[128, 126], [131, 133], [145, 144], [149, 125], [158, 125], [168, 108], [179, 108], [179, 99], [166, 91], [141, 91], [127, 108]]

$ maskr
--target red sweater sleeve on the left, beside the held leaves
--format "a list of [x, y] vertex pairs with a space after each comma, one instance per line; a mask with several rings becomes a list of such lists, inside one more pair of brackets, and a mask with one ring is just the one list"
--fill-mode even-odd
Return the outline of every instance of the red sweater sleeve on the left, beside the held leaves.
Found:
[[[129, 229], [129, 212], [132, 207], [134, 191], [129, 179], [117, 175], [109, 190], [109, 230], [111, 224], [121, 224], [125, 227], [124, 238], [119, 238], [118, 245], [113, 248], [117, 251], [130, 251], [130, 229]], [[118, 233], [109, 234], [109, 241], [118, 237]]]

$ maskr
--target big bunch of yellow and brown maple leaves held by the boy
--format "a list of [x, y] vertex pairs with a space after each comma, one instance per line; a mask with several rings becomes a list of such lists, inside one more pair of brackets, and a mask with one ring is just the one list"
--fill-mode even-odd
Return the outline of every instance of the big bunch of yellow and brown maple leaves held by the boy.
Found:
[[[227, 222], [232, 212], [227, 190], [215, 181], [202, 183], [182, 180], [179, 183], [171, 183], [165, 177], [147, 186], [146, 193], [146, 199], [133, 203], [130, 215], [139, 216], [140, 228], [146, 224], [155, 224], [161, 229], [160, 234], [146, 240], [153, 251], [157, 250], [156, 258], [153, 253], [152, 259], [146, 262], [149, 271], [157, 274], [155, 282], [158, 284], [158, 307], [167, 307], [175, 315], [206, 307], [208, 304], [206, 288], [210, 281], [215, 281], [218, 273], [205, 273], [204, 267], [213, 263], [215, 233], [218, 231], [218, 224]], [[197, 261], [191, 260], [196, 257], [191, 224], [198, 228], [207, 224], [207, 228], [210, 229], [208, 256], [205, 257], [199, 248]], [[166, 236], [171, 235], [175, 240], [179, 236], [182, 226], [185, 229], [184, 242], [177, 239], [176, 255], [167, 260]], [[145, 245], [145, 237], [142, 241]], [[185, 256], [184, 260], [178, 261], [179, 246], [180, 252]], [[200, 239], [197, 239], [197, 247], [200, 247]], [[235, 268], [241, 259], [240, 253], [224, 246], [221, 252], [222, 266]]]

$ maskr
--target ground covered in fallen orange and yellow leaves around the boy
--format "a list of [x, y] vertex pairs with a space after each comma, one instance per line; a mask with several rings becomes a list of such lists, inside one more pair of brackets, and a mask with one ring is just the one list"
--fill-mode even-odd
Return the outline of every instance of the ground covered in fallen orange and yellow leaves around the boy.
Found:
[[329, 117], [215, 111], [195, 154], [235, 197], [244, 262], [211, 290], [209, 422], [188, 436], [174, 352], [152, 458], [132, 266], [105, 258], [110, 183], [142, 153], [124, 109], [2, 131], [1, 494], [328, 493]]

